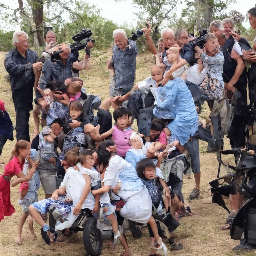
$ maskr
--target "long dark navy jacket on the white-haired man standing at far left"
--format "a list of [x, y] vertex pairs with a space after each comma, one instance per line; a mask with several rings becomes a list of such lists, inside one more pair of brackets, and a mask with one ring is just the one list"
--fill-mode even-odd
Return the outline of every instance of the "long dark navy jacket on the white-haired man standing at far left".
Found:
[[35, 75], [32, 64], [38, 61], [37, 53], [31, 49], [27, 50], [25, 58], [16, 48], [5, 56], [5, 69], [10, 74], [12, 97], [17, 107], [33, 109]]

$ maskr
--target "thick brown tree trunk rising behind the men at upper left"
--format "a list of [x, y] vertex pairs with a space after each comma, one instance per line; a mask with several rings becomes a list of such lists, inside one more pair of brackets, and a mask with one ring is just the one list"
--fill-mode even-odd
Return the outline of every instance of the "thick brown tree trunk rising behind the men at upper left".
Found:
[[31, 1], [32, 17], [36, 27], [36, 34], [39, 46], [43, 46], [43, 1]]

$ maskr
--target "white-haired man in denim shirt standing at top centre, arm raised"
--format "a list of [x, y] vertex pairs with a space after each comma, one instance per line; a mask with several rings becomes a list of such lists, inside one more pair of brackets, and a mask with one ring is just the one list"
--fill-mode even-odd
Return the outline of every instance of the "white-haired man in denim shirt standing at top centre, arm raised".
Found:
[[139, 54], [136, 42], [128, 40], [123, 29], [114, 30], [113, 37], [115, 41], [113, 56], [111, 61], [107, 59], [107, 67], [110, 70], [110, 97], [124, 95], [133, 88], [136, 55]]

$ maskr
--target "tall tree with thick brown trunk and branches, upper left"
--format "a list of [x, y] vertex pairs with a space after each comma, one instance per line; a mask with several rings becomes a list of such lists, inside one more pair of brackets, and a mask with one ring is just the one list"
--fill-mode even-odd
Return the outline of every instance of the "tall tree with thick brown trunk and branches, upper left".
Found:
[[[68, 7], [71, 3], [72, 0], [26, 0], [24, 4], [23, 0], [18, 0], [18, 6], [15, 8], [0, 4], [0, 12], [3, 20], [7, 23], [10, 23], [11, 19], [14, 20], [15, 24], [19, 23], [20, 20], [26, 22], [33, 34], [33, 45], [43, 46], [44, 25], [47, 22], [60, 19], [65, 10], [71, 11]], [[46, 7], [45, 13], [44, 7]], [[10, 14], [8, 11], [13, 11], [13, 13]]]

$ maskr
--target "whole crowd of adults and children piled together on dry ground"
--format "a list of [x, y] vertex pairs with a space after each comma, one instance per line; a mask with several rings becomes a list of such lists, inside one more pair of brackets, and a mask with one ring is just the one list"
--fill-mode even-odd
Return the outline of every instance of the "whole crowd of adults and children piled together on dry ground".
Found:
[[[248, 13], [256, 29], [256, 7]], [[248, 104], [248, 96], [250, 105], [256, 100], [256, 43], [252, 48], [237, 33], [232, 18], [211, 22], [209, 33], [200, 38], [203, 45], [183, 28], [166, 27], [155, 47], [147, 25], [142, 30], [155, 56], [151, 75], [134, 84], [136, 42], [127, 39], [123, 29], [114, 30], [113, 55], [106, 61], [110, 97], [102, 102], [98, 95], [86, 94], [79, 78], [79, 71], [88, 64], [92, 42], [78, 60], [70, 46], [58, 44], [49, 30], [39, 58], [29, 49], [28, 35], [14, 32], [15, 48], [6, 54], [4, 65], [10, 75], [17, 143], [0, 176], [0, 221], [15, 212], [10, 187], [20, 184], [18, 204], [23, 214], [15, 243], [22, 244], [27, 217], [32, 238], [35, 220], [49, 244], [56, 241], [59, 231], [71, 235], [71, 225], [86, 208], [101, 213], [103, 222], [111, 222], [110, 246], [119, 239], [123, 256], [131, 255], [125, 231], [119, 228], [125, 219], [136, 238], [141, 237], [140, 226], [147, 224], [150, 255], [158, 255], [160, 249], [167, 254], [159, 221], [170, 232], [171, 249], [182, 249], [172, 237], [179, 218], [193, 215], [182, 194], [183, 174], [192, 171], [194, 175], [195, 187], [188, 199], [200, 194], [199, 139], [208, 143], [208, 152], [223, 150], [226, 134], [231, 147], [245, 146], [240, 110]], [[59, 53], [53, 55], [54, 51]], [[205, 101], [210, 115], [202, 123], [198, 114]], [[13, 124], [1, 100], [0, 110], [1, 155], [7, 139], [13, 140]], [[30, 143], [31, 110], [35, 129]], [[17, 179], [12, 180], [15, 175]], [[40, 185], [45, 199], [38, 201]], [[239, 209], [238, 195], [234, 193], [230, 200], [232, 211], [223, 229], [229, 228]], [[55, 219], [62, 219], [54, 227], [46, 224], [53, 204]]]

